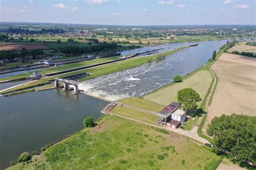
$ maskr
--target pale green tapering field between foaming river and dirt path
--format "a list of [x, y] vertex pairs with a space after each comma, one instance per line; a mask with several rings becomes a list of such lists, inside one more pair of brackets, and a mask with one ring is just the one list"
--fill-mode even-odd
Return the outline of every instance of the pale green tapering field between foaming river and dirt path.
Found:
[[[177, 92], [180, 89], [192, 88], [197, 91], [203, 100], [211, 82], [211, 73], [207, 70], [200, 70], [194, 75], [183, 80], [183, 82], [175, 83], [169, 87], [153, 91], [152, 93], [144, 96], [143, 99], [160, 105], [167, 105], [171, 102], [177, 101]], [[200, 103], [201, 102], [199, 102], [198, 105], [200, 105]]]

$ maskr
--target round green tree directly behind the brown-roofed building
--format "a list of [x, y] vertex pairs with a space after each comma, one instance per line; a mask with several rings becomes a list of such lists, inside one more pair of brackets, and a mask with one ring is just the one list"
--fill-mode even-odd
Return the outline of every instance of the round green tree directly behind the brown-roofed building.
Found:
[[178, 91], [178, 102], [181, 103], [183, 109], [196, 109], [197, 102], [202, 99], [197, 91], [192, 88], [185, 88]]

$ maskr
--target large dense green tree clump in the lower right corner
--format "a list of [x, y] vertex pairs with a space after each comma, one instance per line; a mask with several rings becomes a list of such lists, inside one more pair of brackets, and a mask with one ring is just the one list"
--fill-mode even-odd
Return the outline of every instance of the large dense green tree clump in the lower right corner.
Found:
[[[227, 151], [233, 162], [244, 164], [244, 160], [255, 166], [256, 116], [221, 115], [214, 117], [208, 125], [207, 134], [213, 137], [215, 152]], [[220, 151], [219, 151], [220, 150]]]

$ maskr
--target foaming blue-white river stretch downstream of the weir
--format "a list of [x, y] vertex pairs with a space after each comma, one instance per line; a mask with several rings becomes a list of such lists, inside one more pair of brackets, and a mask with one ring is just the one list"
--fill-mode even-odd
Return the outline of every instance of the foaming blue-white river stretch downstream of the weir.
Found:
[[83, 81], [79, 89], [111, 101], [142, 96], [172, 82], [175, 75], [184, 76], [204, 65], [211, 58], [213, 50], [218, 50], [225, 42], [200, 42], [199, 46], [172, 54], [163, 61]]

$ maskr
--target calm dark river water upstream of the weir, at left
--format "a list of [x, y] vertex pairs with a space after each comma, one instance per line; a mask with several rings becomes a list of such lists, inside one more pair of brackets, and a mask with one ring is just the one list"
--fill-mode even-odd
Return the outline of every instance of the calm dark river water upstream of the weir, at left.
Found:
[[106, 104], [61, 89], [0, 96], [0, 169], [24, 151], [39, 151], [42, 146], [82, 129], [83, 119], [98, 119]]

